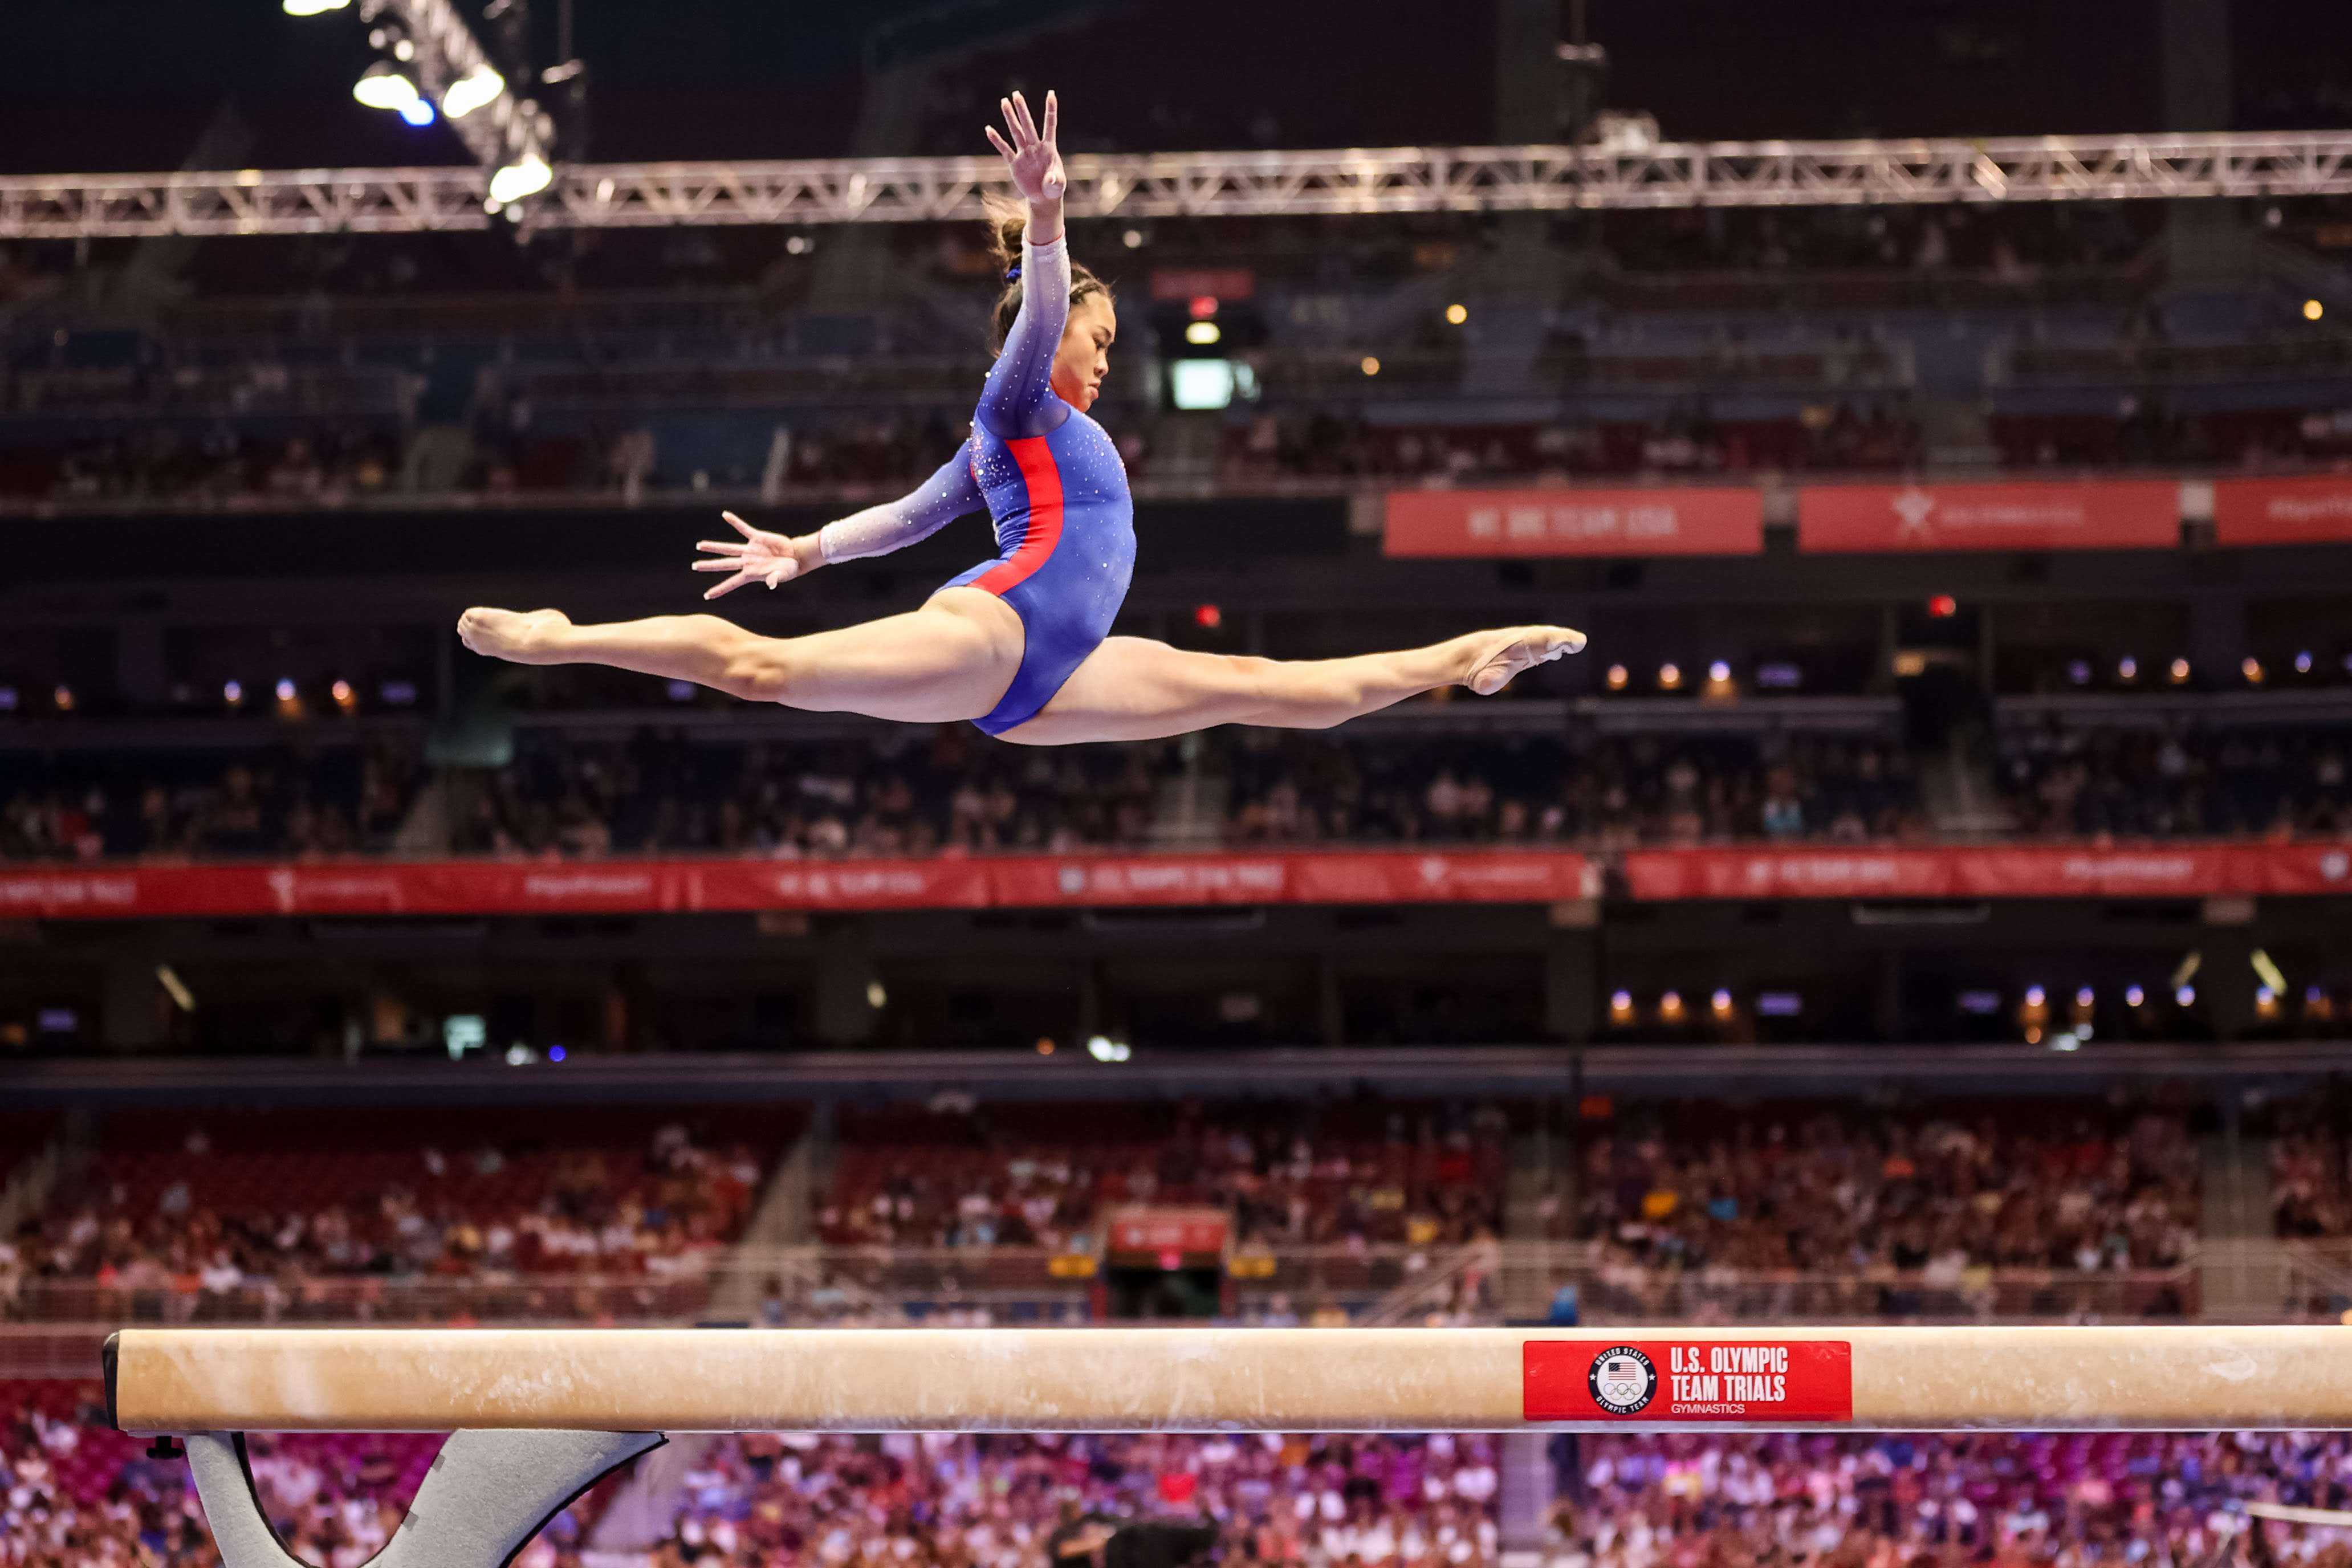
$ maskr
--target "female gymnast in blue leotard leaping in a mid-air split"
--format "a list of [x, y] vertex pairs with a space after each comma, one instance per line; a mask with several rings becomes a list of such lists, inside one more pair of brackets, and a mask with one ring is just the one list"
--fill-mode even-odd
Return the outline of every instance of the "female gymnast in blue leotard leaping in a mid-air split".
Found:
[[995, 315], [1002, 346], [971, 440], [913, 496], [816, 534], [786, 538], [727, 512], [743, 538], [706, 541], [710, 555], [694, 569], [731, 574], [706, 599], [746, 583], [776, 588], [833, 562], [901, 550], [983, 505], [997, 527], [997, 557], [917, 611], [809, 637], [760, 637], [717, 616], [574, 625], [555, 609], [468, 609], [456, 623], [468, 649], [524, 665], [616, 665], [811, 712], [971, 719], [1004, 741], [1073, 745], [1211, 724], [1327, 729], [1437, 686], [1491, 696], [1522, 670], [1585, 646], [1583, 632], [1564, 625], [1308, 661], [1112, 637], [1136, 562], [1134, 501], [1117, 447], [1087, 409], [1110, 369], [1117, 315], [1103, 280], [1070, 263], [1054, 94], [1042, 125], [1021, 94], [1002, 108], [1011, 141], [995, 127], [988, 141], [1028, 212], [1025, 221], [1009, 212], [995, 223], [1007, 263]]

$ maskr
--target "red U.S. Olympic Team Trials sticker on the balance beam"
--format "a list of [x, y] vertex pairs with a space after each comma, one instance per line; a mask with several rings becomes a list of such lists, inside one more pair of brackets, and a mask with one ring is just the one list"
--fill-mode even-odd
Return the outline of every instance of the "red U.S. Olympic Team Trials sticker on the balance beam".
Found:
[[1524, 1420], [1853, 1420], [1846, 1340], [1529, 1340]]

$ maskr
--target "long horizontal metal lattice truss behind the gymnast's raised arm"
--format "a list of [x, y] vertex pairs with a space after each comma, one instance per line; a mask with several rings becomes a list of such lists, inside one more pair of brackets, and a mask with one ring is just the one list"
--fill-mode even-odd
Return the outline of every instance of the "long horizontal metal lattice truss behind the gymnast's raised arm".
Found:
[[[1091, 219], [1860, 207], [2352, 195], [2352, 132], [1710, 141], [1070, 158]], [[301, 235], [487, 228], [487, 169], [245, 169], [0, 179], [0, 237]], [[995, 158], [567, 165], [534, 228], [915, 223], [1007, 190]]]

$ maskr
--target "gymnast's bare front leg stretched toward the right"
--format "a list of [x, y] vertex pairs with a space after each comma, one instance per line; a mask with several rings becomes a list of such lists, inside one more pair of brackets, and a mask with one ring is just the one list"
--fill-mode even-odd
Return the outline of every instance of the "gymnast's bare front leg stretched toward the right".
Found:
[[1244, 658], [1188, 654], [1143, 637], [1105, 637], [1035, 719], [1004, 731], [1023, 745], [1155, 741], [1211, 724], [1329, 729], [1432, 691], [1494, 696], [1515, 675], [1585, 646], [1564, 625], [1470, 632], [1402, 654]]

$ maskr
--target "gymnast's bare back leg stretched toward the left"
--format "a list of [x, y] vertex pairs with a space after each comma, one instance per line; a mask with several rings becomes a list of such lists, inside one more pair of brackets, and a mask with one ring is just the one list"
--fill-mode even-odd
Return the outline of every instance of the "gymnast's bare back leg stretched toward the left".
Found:
[[753, 703], [943, 724], [997, 705], [1021, 668], [1021, 616], [976, 588], [910, 614], [807, 637], [760, 637], [717, 616], [572, 625], [557, 609], [468, 609], [475, 654], [520, 665], [612, 665], [689, 679]]

